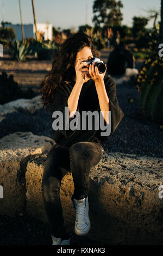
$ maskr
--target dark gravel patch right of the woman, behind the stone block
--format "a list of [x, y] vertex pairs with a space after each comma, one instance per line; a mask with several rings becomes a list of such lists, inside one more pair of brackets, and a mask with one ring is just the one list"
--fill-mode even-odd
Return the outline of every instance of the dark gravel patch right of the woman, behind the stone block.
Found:
[[[124, 112], [124, 118], [114, 135], [104, 143], [105, 150], [137, 154], [137, 156], [162, 157], [161, 123], [155, 123], [143, 117], [139, 108], [140, 93], [135, 86], [118, 85], [117, 99]], [[133, 103], [130, 103], [130, 99]]]

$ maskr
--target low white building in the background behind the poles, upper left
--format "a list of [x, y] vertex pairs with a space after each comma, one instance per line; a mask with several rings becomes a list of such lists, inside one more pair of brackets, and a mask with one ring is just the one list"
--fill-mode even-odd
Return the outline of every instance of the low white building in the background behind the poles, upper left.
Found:
[[[14, 28], [16, 38], [14, 40], [22, 40], [22, 28], [21, 25], [5, 24], [4, 27]], [[35, 38], [35, 25], [34, 24], [23, 24], [24, 27], [24, 39]], [[44, 33], [45, 40], [53, 40], [53, 26], [49, 23], [37, 23], [37, 32]]]

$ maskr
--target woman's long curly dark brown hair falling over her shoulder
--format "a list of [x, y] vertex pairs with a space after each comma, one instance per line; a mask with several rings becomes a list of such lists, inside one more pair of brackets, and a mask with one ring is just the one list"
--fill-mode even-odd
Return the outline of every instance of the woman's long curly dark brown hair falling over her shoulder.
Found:
[[[63, 44], [60, 45], [57, 56], [52, 63], [52, 69], [43, 80], [43, 86], [40, 89], [41, 101], [43, 109], [51, 108], [54, 99], [54, 90], [62, 82], [71, 82], [76, 76], [74, 63], [77, 53], [85, 46], [91, 48], [92, 54], [95, 57], [98, 52], [93, 48], [90, 36], [79, 32], [69, 36]], [[97, 56], [98, 57], [98, 56]]]

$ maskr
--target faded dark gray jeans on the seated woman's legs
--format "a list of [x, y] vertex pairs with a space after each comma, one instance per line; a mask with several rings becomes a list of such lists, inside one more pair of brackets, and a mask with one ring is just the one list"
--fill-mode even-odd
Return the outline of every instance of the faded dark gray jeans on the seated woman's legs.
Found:
[[70, 150], [54, 144], [47, 154], [42, 177], [42, 197], [51, 232], [55, 237], [65, 233], [60, 201], [62, 178], [71, 171], [74, 182], [72, 198], [86, 197], [90, 169], [101, 160], [103, 151], [100, 143], [78, 142]]

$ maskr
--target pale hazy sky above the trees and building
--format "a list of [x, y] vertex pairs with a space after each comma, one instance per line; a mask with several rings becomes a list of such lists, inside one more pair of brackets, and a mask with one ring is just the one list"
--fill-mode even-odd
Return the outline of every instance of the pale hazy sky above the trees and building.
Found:
[[[121, 0], [122, 25], [132, 26], [134, 16], [147, 16], [148, 9], [160, 10], [161, 0]], [[34, 0], [37, 23], [52, 23], [55, 28], [73, 28], [86, 23], [93, 26], [92, 7], [94, 0]], [[4, 3], [4, 5], [3, 5]], [[34, 23], [31, 0], [20, 0], [23, 24]], [[2, 8], [4, 6], [4, 8]], [[20, 24], [18, 0], [0, 0], [0, 23], [3, 21]], [[160, 16], [158, 21], [160, 21]], [[148, 23], [152, 27], [153, 20]]]

